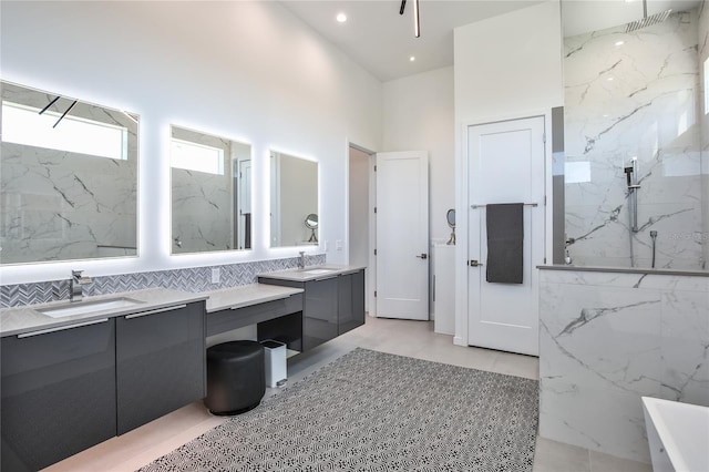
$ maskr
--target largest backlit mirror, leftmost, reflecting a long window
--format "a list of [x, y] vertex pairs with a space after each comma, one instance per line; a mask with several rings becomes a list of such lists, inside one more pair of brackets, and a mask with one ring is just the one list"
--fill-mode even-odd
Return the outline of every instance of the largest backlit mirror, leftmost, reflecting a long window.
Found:
[[0, 261], [135, 256], [137, 115], [0, 85]]

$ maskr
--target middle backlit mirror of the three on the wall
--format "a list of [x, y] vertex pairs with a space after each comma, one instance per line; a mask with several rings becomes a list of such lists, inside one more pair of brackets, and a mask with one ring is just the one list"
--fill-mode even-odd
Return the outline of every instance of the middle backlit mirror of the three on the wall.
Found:
[[172, 126], [173, 254], [251, 248], [251, 146]]

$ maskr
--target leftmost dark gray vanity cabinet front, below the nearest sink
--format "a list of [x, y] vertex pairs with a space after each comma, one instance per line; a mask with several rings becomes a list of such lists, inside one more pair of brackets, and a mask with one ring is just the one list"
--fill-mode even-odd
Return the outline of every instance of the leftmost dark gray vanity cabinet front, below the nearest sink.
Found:
[[1, 470], [37, 471], [113, 438], [115, 322], [0, 339]]

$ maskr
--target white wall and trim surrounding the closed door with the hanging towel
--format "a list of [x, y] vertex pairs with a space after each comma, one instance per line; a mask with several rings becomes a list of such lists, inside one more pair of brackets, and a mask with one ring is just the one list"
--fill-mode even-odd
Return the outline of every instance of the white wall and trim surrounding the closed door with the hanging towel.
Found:
[[[551, 109], [564, 103], [559, 2], [538, 3], [460, 27], [453, 35], [458, 198], [454, 342], [467, 345], [466, 127], [495, 120], [546, 115], [546, 185], [551, 189]], [[547, 196], [547, 256], [551, 258], [553, 202], [551, 195]]]

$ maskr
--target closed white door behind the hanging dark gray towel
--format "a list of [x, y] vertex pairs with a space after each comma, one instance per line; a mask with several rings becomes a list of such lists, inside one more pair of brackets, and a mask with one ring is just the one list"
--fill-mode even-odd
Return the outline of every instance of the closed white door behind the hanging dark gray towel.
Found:
[[[535, 267], [544, 260], [544, 117], [470, 126], [467, 137], [467, 343], [537, 356]], [[499, 203], [524, 204], [522, 284], [486, 278], [486, 205]]]

